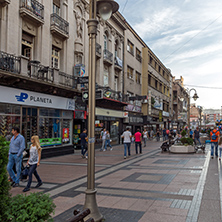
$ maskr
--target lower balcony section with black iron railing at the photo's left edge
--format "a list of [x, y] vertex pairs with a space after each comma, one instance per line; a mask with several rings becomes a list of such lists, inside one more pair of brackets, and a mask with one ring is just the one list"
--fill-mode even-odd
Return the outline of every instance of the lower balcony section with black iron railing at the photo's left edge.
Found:
[[0, 70], [20, 74], [21, 60], [17, 56], [0, 51]]

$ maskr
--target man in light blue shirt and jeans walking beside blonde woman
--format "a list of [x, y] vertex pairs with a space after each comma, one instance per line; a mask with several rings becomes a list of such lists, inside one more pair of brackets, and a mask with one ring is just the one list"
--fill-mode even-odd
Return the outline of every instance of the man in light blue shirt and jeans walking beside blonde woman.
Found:
[[[23, 150], [25, 149], [25, 139], [20, 134], [20, 130], [18, 127], [12, 127], [12, 134], [13, 134], [13, 137], [10, 142], [7, 170], [12, 179], [11, 186], [18, 187], [20, 174], [21, 174]], [[16, 176], [13, 170], [14, 164], [15, 164], [16, 172], [17, 172]]]

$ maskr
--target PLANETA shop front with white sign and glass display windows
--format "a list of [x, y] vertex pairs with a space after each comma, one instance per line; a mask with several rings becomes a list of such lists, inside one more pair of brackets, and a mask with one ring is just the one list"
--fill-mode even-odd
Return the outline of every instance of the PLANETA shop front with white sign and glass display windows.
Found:
[[[0, 86], [0, 101], [1, 136], [17, 126], [25, 137], [26, 148], [33, 135], [39, 136], [43, 157], [52, 152], [57, 155], [58, 148], [63, 154], [73, 152], [73, 99]], [[47, 148], [51, 151], [44, 151]]]

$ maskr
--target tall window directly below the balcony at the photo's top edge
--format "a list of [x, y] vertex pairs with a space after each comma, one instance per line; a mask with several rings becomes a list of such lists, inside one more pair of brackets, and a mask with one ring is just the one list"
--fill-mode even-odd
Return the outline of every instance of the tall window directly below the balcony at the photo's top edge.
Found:
[[32, 59], [33, 36], [22, 32], [22, 55]]

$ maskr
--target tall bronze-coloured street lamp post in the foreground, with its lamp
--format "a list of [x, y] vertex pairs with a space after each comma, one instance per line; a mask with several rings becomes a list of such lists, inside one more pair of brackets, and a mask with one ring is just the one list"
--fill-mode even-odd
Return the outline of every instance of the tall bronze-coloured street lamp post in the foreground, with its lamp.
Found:
[[111, 17], [119, 9], [119, 5], [113, 0], [90, 0], [89, 3], [89, 115], [88, 115], [88, 162], [87, 162], [87, 189], [85, 191], [84, 208], [90, 209], [89, 217], [95, 221], [102, 221], [103, 216], [99, 212], [96, 202], [95, 189], [95, 92], [96, 92], [96, 35], [97, 12], [103, 20]]

